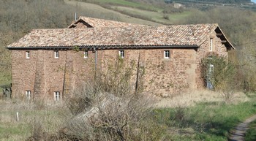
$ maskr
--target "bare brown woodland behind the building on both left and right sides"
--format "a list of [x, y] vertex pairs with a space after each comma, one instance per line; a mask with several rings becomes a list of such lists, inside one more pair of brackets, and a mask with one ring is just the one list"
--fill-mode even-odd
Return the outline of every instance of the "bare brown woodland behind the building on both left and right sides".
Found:
[[[133, 0], [129, 0], [133, 1]], [[141, 0], [138, 2], [146, 2]], [[148, 3], [161, 6], [164, 1], [150, 0]], [[165, 9], [166, 5], [163, 6]], [[168, 7], [172, 8], [172, 7]], [[228, 39], [237, 50], [230, 53], [230, 59], [237, 64], [238, 79], [249, 82], [256, 89], [256, 13], [245, 9], [211, 7], [204, 11], [185, 9], [192, 13], [189, 18], [179, 20], [176, 24], [219, 23]], [[74, 13], [79, 15], [118, 20], [116, 15], [91, 12], [79, 6], [67, 5], [64, 0], [1, 0], [0, 1], [0, 84], [10, 82], [10, 51], [5, 47], [29, 33], [33, 28], [66, 28]]]

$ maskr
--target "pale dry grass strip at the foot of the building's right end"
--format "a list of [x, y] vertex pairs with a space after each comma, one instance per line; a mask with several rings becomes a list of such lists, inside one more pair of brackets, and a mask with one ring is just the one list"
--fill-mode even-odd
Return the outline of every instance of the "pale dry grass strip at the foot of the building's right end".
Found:
[[[189, 93], [177, 94], [172, 98], [156, 98], [158, 100], [156, 107], [180, 107], [194, 106], [198, 102], [225, 102], [223, 96], [215, 91], [200, 90], [190, 91]], [[242, 92], [234, 94], [231, 100], [233, 104], [246, 102], [249, 98]]]

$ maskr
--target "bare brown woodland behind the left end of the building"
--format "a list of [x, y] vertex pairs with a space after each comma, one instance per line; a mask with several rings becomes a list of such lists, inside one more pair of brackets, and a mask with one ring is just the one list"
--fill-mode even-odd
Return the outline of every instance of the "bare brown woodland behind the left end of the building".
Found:
[[0, 0], [0, 85], [10, 83], [10, 51], [5, 47], [29, 33], [33, 28], [67, 28], [74, 13], [95, 18], [118, 18], [91, 12], [64, 0]]

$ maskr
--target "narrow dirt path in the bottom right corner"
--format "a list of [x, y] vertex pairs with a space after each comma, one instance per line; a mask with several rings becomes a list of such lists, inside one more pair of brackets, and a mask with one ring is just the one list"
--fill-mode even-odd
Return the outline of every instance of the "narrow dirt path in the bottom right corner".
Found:
[[255, 120], [256, 120], [256, 115], [253, 115], [252, 117], [247, 118], [244, 122], [239, 123], [238, 126], [236, 126], [236, 129], [233, 132], [230, 132], [228, 140], [230, 141], [244, 140], [246, 130], [248, 129], [248, 124]]

